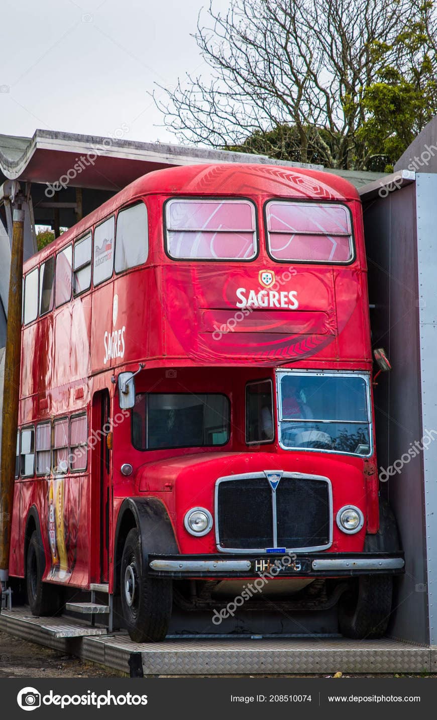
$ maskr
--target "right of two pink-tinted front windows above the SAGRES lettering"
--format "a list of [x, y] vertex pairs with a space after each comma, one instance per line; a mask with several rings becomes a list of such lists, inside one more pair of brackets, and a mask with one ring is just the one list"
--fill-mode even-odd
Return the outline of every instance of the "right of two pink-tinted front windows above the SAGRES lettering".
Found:
[[353, 260], [351, 213], [345, 205], [272, 200], [267, 243], [274, 260], [344, 264]]

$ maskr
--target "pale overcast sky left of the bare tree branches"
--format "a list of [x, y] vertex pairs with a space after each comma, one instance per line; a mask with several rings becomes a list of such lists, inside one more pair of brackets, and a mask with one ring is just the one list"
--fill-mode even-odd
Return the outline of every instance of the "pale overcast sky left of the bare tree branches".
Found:
[[[208, 0], [0, 0], [0, 133], [37, 128], [176, 143], [148, 92], [209, 75], [197, 14]], [[225, 10], [229, 0], [215, 0]], [[206, 16], [206, 13], [205, 13]], [[118, 132], [117, 132], [118, 131]]]

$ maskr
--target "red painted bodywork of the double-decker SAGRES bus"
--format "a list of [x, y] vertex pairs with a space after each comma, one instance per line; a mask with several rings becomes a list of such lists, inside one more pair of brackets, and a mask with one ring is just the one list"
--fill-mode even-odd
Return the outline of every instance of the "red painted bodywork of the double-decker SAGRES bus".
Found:
[[[163, 215], [174, 197], [245, 198], [253, 203], [258, 255], [252, 261], [176, 261], [165, 251]], [[351, 212], [355, 257], [348, 265], [277, 262], [266, 249], [265, 204], [271, 199], [343, 204]], [[168, 509], [182, 553], [217, 552], [214, 533], [194, 538], [184, 528], [186, 510], [214, 512], [217, 477], [281, 467], [323, 474], [333, 484], [334, 518], [346, 504], [364, 510], [366, 526], [355, 535], [335, 525], [330, 552], [361, 552], [364, 535], [378, 528], [377, 463], [359, 456], [281, 449], [277, 441], [245, 444], [245, 383], [271, 377], [278, 366], [371, 372], [369, 302], [361, 204], [345, 180], [307, 169], [268, 165], [189, 166], [150, 173], [44, 248], [24, 273], [75, 243], [120, 208], [145, 202], [149, 254], [142, 266], [113, 274], [22, 330], [20, 426], [86, 410], [89, 459], [84, 472], [68, 472], [53, 490], [56, 529], [65, 542], [67, 570], [50, 563], [50, 483], [53, 477], [15, 483], [10, 572], [24, 575], [24, 529], [30, 508], [40, 518], [46, 577], [87, 587], [102, 578], [99, 523], [99, 428], [97, 392], [109, 390], [113, 450], [110, 452], [109, 585], [113, 582], [114, 527], [123, 498], [154, 496]], [[265, 275], [263, 275], [265, 273]], [[274, 282], [263, 282], [263, 278]], [[243, 313], [238, 297], [251, 290], [261, 299], [273, 287], [273, 307]], [[238, 289], [245, 292], [238, 294]], [[281, 292], [284, 296], [281, 296]], [[278, 300], [279, 298], [279, 300]], [[293, 299], [298, 307], [292, 307]], [[284, 300], [284, 307], [276, 307]], [[239, 313], [239, 314], [238, 314]], [[240, 317], [243, 315], [243, 317]], [[229, 323], [230, 318], [235, 323]], [[108, 353], [109, 338], [112, 351]], [[114, 378], [145, 369], [137, 392], [222, 392], [231, 402], [229, 442], [215, 449], [139, 451], [132, 446], [130, 413], [120, 410]], [[276, 414], [276, 410], [275, 410]], [[129, 462], [133, 473], [120, 472]], [[199, 477], [202, 481], [199, 482]], [[60, 489], [62, 485], [62, 489]]]

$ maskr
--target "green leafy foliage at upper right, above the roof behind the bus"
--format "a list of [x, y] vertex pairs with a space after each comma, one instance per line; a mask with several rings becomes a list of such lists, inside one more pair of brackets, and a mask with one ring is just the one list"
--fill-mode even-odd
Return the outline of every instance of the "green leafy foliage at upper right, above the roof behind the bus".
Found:
[[[258, 153], [279, 160], [392, 172], [423, 127], [437, 114], [436, 0], [410, 0], [415, 22], [392, 42], [373, 40], [369, 65], [379, 67], [368, 85], [353, 92], [343, 82], [342, 131], [332, 124], [298, 128], [293, 122], [256, 130], [226, 150]], [[353, 127], [355, 125], [355, 127]], [[302, 132], [303, 130], [303, 132]]]

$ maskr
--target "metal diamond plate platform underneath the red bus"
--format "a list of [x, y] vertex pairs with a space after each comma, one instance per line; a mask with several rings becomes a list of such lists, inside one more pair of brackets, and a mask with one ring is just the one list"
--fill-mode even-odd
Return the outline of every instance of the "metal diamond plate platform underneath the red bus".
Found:
[[314, 675], [341, 672], [436, 672], [437, 648], [391, 639], [342, 637], [174, 639], [132, 642], [71, 618], [33, 618], [27, 608], [2, 611], [0, 629], [76, 654], [127, 675]]

